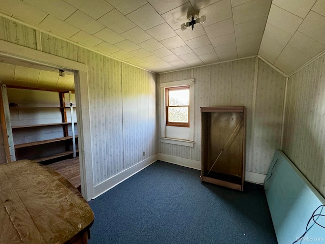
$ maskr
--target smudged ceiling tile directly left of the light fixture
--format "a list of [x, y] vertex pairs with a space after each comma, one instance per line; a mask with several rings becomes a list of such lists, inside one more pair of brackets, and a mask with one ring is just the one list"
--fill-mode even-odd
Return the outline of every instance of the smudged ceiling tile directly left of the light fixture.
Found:
[[[191, 4], [187, 2], [186, 4], [161, 15], [161, 17], [163, 17], [173, 29], [179, 29], [182, 23], [187, 22], [187, 13], [192, 11], [193, 8]], [[195, 27], [196, 26], [194, 26], [194, 29]]]

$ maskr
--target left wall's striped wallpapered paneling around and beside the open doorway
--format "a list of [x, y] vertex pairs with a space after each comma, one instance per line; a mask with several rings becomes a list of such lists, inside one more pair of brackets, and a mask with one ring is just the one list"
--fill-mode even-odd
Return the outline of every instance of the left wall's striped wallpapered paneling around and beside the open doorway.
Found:
[[[34, 29], [3, 17], [0, 39], [37, 48]], [[94, 185], [158, 153], [155, 74], [48, 34], [41, 39], [43, 52], [88, 67]]]

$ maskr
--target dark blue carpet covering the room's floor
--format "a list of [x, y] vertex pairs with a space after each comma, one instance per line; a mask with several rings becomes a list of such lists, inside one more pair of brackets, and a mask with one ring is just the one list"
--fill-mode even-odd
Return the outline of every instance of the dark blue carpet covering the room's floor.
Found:
[[200, 171], [157, 161], [89, 202], [93, 243], [277, 243], [262, 186], [201, 183]]

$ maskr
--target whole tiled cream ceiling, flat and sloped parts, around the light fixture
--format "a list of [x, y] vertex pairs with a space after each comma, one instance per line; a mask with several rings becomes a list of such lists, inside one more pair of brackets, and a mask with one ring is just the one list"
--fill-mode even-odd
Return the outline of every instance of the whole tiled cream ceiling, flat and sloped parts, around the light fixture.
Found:
[[[258, 54], [290, 74], [325, 49], [325, 1], [271, 2], [0, 0], [0, 13], [156, 73]], [[181, 31], [194, 10], [206, 22]]]

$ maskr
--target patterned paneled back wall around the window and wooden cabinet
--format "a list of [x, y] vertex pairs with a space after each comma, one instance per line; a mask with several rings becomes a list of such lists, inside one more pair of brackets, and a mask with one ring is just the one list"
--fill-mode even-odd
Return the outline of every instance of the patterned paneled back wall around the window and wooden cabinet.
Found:
[[194, 147], [159, 143], [159, 152], [201, 161], [200, 107], [246, 106], [246, 170], [266, 174], [281, 145], [285, 78], [255, 58], [158, 75], [160, 83], [191, 78], [196, 80]]

